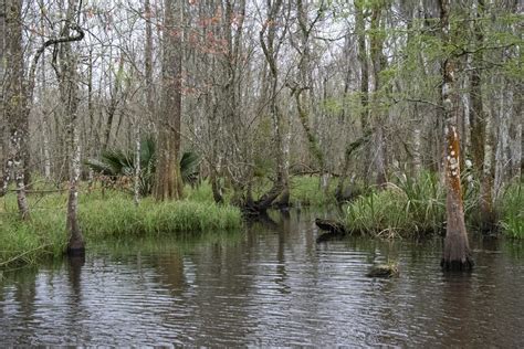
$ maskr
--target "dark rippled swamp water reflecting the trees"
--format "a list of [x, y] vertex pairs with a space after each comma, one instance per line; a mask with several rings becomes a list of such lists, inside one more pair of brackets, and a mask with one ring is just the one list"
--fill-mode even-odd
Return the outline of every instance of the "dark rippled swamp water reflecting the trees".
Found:
[[[524, 347], [523, 243], [473, 242], [474, 272], [444, 275], [440, 241], [316, 244], [313, 218], [7, 273], [0, 345]], [[399, 278], [365, 277], [388, 258]]]

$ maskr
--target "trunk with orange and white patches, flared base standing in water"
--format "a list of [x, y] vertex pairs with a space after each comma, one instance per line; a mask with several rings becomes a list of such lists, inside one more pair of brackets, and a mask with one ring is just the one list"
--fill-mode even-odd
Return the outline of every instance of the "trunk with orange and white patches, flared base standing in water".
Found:
[[[440, 0], [441, 34], [444, 45], [452, 44], [450, 34], [450, 0]], [[464, 222], [464, 205], [460, 183], [460, 141], [458, 92], [454, 82], [454, 56], [443, 62], [442, 105], [446, 134], [447, 230], [441, 265], [444, 269], [471, 269], [473, 261]]]

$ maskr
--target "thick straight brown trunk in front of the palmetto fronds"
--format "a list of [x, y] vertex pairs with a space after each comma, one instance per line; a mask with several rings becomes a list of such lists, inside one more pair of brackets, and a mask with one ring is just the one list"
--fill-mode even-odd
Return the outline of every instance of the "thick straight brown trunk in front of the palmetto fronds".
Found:
[[181, 6], [176, 0], [164, 2], [161, 108], [158, 120], [158, 163], [154, 194], [157, 200], [178, 200], [182, 182], [178, 157], [180, 152], [181, 116], [181, 30], [176, 28]]

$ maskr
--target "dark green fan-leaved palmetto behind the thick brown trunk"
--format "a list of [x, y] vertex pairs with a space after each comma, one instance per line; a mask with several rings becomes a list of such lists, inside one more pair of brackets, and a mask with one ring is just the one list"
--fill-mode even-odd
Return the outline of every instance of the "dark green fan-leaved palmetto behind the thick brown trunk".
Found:
[[[192, 151], [185, 151], [180, 159], [180, 173], [185, 182], [191, 182], [198, 174], [200, 158]], [[99, 158], [87, 159], [85, 165], [108, 180], [116, 182], [119, 179], [132, 178], [135, 173], [135, 151], [123, 149], [104, 150]], [[138, 187], [140, 195], [149, 195], [156, 171], [156, 141], [146, 137], [140, 141], [140, 172]]]

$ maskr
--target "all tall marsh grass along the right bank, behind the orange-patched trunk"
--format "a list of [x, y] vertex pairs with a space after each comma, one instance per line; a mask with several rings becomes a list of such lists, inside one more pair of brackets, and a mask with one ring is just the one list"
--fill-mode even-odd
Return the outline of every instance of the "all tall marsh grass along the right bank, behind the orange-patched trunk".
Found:
[[[479, 226], [479, 182], [463, 178], [464, 214], [469, 230]], [[495, 207], [502, 232], [524, 239], [524, 193], [522, 183], [509, 186]], [[399, 176], [384, 190], [373, 189], [346, 208], [346, 228], [370, 236], [420, 236], [444, 234], [446, 189], [436, 173], [418, 178]]]

